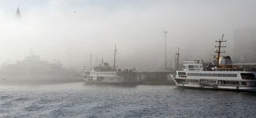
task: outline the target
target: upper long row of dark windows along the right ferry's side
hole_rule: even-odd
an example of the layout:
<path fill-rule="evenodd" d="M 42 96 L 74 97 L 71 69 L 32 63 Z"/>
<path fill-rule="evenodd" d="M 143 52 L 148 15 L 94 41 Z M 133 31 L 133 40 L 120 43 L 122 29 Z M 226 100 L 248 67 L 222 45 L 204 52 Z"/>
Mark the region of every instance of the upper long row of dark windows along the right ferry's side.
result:
<path fill-rule="evenodd" d="M 187 76 L 237 77 L 237 74 L 222 74 L 222 73 L 187 73 Z"/>

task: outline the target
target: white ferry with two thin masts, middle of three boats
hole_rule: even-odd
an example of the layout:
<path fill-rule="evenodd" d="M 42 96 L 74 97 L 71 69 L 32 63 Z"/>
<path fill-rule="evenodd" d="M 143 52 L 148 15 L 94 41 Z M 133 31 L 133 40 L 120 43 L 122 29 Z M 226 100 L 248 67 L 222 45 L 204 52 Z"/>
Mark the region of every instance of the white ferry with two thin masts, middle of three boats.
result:
<path fill-rule="evenodd" d="M 135 69 L 117 69 L 116 68 L 116 46 L 114 50 L 114 65 L 103 63 L 99 66 L 91 68 L 89 71 L 83 71 L 83 79 L 85 83 L 101 83 L 101 84 L 117 84 L 131 85 L 139 84 L 138 73 Z"/>

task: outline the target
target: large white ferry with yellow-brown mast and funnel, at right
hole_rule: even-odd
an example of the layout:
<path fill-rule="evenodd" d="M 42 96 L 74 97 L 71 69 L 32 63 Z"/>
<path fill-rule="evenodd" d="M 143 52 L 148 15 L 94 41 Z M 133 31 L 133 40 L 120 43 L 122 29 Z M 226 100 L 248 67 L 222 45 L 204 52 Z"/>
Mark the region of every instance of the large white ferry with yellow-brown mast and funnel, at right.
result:
<path fill-rule="evenodd" d="M 238 90 L 256 91 L 256 65 L 232 64 L 231 57 L 221 56 L 221 42 L 218 46 L 212 63 L 205 61 L 184 61 L 184 70 L 176 71 L 171 75 L 176 87 L 211 89 L 211 90 Z"/>

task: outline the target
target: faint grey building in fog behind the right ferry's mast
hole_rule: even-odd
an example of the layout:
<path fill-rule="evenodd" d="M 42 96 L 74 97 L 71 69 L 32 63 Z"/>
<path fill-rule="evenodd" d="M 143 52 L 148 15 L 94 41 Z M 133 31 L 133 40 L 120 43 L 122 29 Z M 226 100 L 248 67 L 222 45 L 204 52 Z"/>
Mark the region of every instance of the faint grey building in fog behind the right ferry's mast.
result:
<path fill-rule="evenodd" d="M 234 42 L 235 63 L 256 63 L 256 27 L 237 29 Z"/>

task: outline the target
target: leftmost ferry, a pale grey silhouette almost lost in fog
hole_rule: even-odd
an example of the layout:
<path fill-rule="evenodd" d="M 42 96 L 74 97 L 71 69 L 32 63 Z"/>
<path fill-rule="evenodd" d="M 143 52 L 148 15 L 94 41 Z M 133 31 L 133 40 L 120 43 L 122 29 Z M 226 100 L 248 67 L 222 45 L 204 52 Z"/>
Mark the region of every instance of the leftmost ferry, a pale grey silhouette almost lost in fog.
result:
<path fill-rule="evenodd" d="M 81 77 L 79 72 L 63 68 L 59 61 L 50 63 L 34 54 L 13 64 L 6 62 L 0 68 L 0 83 L 69 83 L 80 82 Z"/>

